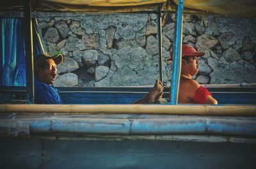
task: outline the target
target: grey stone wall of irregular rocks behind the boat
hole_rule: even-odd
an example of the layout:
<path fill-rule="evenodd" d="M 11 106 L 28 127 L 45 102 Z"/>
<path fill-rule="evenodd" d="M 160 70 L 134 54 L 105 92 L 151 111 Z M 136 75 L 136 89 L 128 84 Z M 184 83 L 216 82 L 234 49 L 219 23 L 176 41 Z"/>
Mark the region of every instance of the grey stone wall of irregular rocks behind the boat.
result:
<path fill-rule="evenodd" d="M 159 78 L 154 14 L 36 13 L 47 50 L 61 51 L 56 86 L 152 85 Z M 163 26 L 164 81 L 170 82 L 173 15 Z M 256 20 L 184 16 L 183 43 L 205 50 L 195 79 L 202 84 L 256 82 Z"/>

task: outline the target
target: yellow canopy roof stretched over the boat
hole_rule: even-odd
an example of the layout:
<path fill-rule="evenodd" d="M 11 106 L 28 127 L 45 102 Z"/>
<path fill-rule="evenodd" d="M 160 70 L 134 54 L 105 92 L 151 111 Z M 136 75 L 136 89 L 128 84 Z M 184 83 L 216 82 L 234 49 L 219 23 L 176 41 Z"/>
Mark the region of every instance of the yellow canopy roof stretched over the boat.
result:
<path fill-rule="evenodd" d="M 76 12 L 132 12 L 156 9 L 174 11 L 178 0 L 31 0 L 34 10 Z M 0 9 L 22 9 L 22 0 L 2 0 Z M 184 13 L 256 17 L 255 0 L 184 0 Z"/>

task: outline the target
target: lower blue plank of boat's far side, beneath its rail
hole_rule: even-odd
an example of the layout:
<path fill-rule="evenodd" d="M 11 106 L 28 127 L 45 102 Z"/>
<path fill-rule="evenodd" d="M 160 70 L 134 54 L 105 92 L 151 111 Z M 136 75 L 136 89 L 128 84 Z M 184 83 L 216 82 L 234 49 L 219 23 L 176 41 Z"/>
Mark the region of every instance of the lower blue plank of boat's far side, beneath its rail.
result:
<path fill-rule="evenodd" d="M 61 92 L 66 104 L 131 104 L 145 96 L 147 92 Z M 219 104 L 256 104 L 256 93 L 212 93 Z M 164 93 L 164 98 L 168 98 Z"/>

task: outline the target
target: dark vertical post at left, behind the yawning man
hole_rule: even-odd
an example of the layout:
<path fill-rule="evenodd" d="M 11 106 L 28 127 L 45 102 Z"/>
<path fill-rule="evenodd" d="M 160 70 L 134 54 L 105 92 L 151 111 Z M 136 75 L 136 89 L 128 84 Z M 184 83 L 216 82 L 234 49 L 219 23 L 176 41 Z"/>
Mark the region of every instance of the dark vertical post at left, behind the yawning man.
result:
<path fill-rule="evenodd" d="M 25 31 L 25 50 L 26 50 L 26 89 L 27 103 L 33 104 L 34 91 L 34 64 L 33 64 L 33 39 L 32 39 L 32 18 L 31 0 L 24 0 L 24 31 Z"/>

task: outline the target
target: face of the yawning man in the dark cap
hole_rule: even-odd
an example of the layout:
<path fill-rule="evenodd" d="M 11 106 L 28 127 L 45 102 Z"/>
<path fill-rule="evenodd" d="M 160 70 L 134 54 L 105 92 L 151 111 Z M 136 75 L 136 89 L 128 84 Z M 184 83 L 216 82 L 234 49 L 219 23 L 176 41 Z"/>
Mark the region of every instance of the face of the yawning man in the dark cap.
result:
<path fill-rule="evenodd" d="M 53 59 L 45 61 L 44 68 L 38 68 L 38 80 L 45 84 L 53 84 L 57 75 L 57 66 Z"/>

